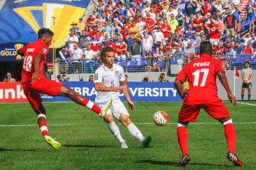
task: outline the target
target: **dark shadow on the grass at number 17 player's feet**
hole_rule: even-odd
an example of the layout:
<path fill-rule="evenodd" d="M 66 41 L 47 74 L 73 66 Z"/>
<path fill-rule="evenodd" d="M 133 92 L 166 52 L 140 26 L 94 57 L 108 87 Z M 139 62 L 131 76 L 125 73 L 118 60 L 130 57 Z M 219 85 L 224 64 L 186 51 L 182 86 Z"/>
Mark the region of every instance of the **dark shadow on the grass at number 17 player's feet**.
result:
<path fill-rule="evenodd" d="M 149 163 L 149 164 L 157 164 L 162 166 L 177 166 L 178 162 L 162 162 L 162 161 L 152 161 L 152 160 L 140 160 L 135 163 Z M 193 165 L 204 165 L 204 166 L 218 166 L 218 167 L 231 167 L 232 165 L 223 165 L 223 164 L 199 164 L 199 163 L 189 163 L 187 166 Z"/>

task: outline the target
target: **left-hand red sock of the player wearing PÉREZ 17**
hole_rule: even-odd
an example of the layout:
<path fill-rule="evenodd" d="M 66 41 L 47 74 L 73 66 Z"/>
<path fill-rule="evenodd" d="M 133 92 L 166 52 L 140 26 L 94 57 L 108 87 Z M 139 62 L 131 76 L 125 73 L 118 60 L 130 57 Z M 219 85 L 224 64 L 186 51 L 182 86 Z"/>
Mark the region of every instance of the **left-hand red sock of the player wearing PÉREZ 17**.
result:
<path fill-rule="evenodd" d="M 187 140 L 189 139 L 189 135 L 187 134 L 187 128 L 185 128 L 184 126 L 178 127 L 177 136 L 180 149 L 182 149 L 182 157 L 184 157 L 186 154 L 189 154 L 187 149 Z"/>

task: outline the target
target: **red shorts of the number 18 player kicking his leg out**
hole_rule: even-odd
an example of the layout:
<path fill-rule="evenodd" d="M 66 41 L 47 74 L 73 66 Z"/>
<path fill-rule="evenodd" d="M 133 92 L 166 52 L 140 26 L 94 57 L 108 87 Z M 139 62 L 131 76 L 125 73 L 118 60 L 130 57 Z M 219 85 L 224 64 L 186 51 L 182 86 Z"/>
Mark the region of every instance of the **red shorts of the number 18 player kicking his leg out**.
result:
<path fill-rule="evenodd" d="M 42 103 L 40 94 L 48 94 L 49 96 L 57 96 L 59 94 L 61 83 L 50 79 L 36 79 L 33 84 L 30 81 L 23 84 L 24 94 L 28 98 L 30 106 L 37 111 Z"/>

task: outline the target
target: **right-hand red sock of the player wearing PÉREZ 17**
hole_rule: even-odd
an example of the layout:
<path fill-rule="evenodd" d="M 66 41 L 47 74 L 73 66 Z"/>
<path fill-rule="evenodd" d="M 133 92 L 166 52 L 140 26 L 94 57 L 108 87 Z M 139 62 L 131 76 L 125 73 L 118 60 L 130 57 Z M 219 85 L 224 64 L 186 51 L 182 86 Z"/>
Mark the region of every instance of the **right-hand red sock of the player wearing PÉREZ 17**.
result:
<path fill-rule="evenodd" d="M 232 154 L 235 154 L 235 128 L 233 123 L 228 123 L 224 126 L 225 128 L 225 136 L 227 138 L 228 143 L 228 152 L 231 152 Z"/>

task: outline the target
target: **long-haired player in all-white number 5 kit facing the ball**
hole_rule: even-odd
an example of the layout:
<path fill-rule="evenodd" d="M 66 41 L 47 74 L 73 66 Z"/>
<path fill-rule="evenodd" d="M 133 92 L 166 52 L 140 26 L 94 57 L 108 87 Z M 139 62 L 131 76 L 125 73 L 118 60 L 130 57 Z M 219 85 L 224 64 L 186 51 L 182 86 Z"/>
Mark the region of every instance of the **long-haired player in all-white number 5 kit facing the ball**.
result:
<path fill-rule="evenodd" d="M 130 100 L 128 85 L 126 84 L 126 77 L 123 72 L 123 67 L 114 64 L 115 50 L 112 47 L 104 47 L 99 53 L 100 67 L 95 71 L 94 88 L 98 91 L 95 98 L 95 103 L 102 106 L 111 98 L 113 99 L 111 107 L 108 109 L 104 121 L 108 124 L 108 129 L 111 131 L 116 140 L 121 145 L 121 148 L 128 148 L 126 141 L 121 137 L 120 130 L 113 120 L 115 117 L 119 120 L 130 132 L 133 137 L 139 140 L 143 147 L 149 147 L 152 137 L 144 137 L 143 134 L 130 120 L 130 115 L 126 107 L 118 97 L 119 91 L 123 91 L 124 96 L 128 102 L 129 108 L 133 111 L 135 108 L 133 101 Z M 121 85 L 119 85 L 119 83 Z"/>

